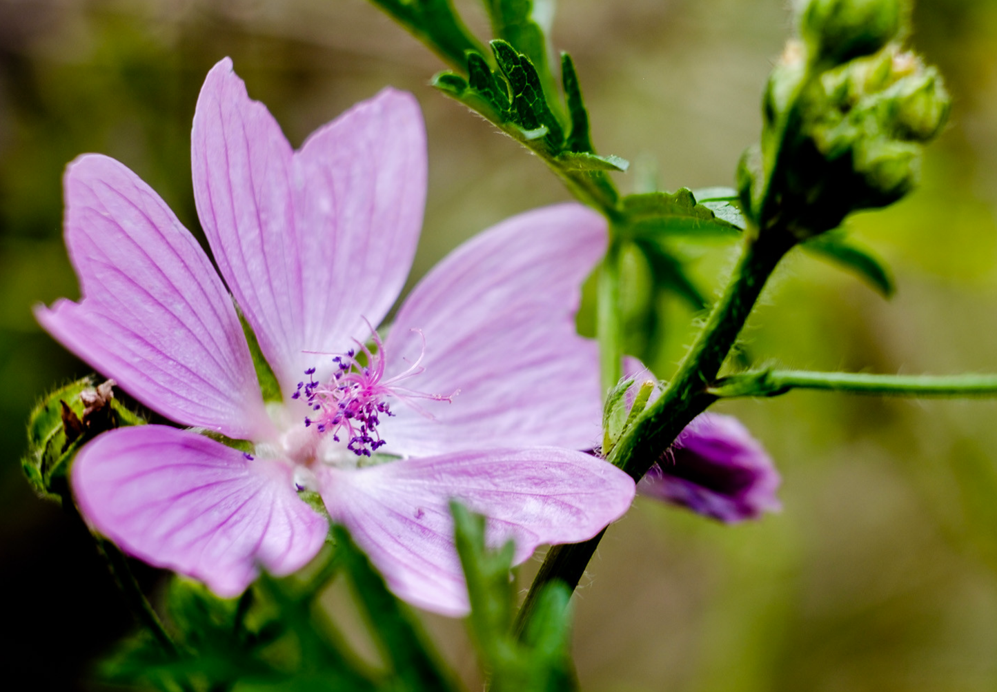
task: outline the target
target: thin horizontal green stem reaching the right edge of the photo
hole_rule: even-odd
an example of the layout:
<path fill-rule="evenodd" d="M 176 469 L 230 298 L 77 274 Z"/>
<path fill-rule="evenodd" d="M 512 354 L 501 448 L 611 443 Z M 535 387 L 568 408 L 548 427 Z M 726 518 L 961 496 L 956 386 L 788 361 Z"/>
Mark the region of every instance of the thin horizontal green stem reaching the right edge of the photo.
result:
<path fill-rule="evenodd" d="M 824 389 L 884 396 L 993 396 L 997 374 L 871 374 L 761 370 L 720 379 L 707 392 L 717 397 L 777 396 L 790 389 Z"/>

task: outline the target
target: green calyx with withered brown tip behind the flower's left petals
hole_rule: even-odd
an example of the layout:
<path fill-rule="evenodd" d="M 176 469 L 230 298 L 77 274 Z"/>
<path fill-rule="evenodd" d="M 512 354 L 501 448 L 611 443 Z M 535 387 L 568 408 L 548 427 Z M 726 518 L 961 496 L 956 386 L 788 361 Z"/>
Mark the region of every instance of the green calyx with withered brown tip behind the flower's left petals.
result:
<path fill-rule="evenodd" d="M 72 461 L 88 441 L 113 428 L 145 424 L 116 398 L 88 412 L 81 395 L 96 387 L 93 376 L 78 379 L 48 394 L 31 412 L 21 468 L 40 497 L 61 502 L 69 491 L 66 479 Z"/>

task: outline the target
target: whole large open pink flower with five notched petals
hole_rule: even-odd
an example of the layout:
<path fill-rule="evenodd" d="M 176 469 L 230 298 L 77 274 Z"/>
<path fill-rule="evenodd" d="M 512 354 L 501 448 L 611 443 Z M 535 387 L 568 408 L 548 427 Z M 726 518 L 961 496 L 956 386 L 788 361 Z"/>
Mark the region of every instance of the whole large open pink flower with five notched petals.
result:
<path fill-rule="evenodd" d="M 65 177 L 84 297 L 36 314 L 150 408 L 251 451 L 163 425 L 102 435 L 72 473 L 97 530 L 234 595 L 259 567 L 284 575 L 317 553 L 326 520 L 298 497 L 315 490 L 396 593 L 460 614 L 452 498 L 490 518 L 492 541 L 514 539 L 517 563 L 626 511 L 632 480 L 572 451 L 599 436 L 595 346 L 573 316 L 601 217 L 563 204 L 498 224 L 416 287 L 382 343 L 369 325 L 405 283 L 426 195 L 415 100 L 385 90 L 293 151 L 226 59 L 191 149 L 225 283 L 148 185 L 88 154 Z M 229 291 L 282 403 L 264 403 Z"/>

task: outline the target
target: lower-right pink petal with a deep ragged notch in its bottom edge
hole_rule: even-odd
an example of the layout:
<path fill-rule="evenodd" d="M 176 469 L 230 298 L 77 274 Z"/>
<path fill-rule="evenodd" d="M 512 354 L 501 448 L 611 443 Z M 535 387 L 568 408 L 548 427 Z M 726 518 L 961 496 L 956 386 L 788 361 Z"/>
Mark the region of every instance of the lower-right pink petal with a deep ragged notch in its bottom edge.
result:
<path fill-rule="evenodd" d="M 468 611 L 449 502 L 489 518 L 514 563 L 541 544 L 592 538 L 626 512 L 634 483 L 615 466 L 565 449 L 494 450 L 325 469 L 322 499 L 400 597 L 446 615 Z"/>

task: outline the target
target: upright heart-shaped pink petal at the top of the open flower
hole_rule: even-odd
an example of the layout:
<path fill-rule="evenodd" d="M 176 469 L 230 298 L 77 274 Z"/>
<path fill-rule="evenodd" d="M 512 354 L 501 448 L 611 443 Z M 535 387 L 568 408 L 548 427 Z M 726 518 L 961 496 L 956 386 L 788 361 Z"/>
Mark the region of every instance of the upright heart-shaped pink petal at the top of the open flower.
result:
<path fill-rule="evenodd" d="M 218 268 L 290 393 L 314 353 L 378 324 L 405 282 L 426 198 L 426 135 L 410 95 L 385 90 L 297 154 L 222 60 L 191 141 L 194 196 Z"/>

